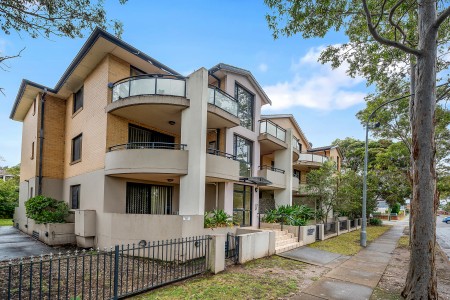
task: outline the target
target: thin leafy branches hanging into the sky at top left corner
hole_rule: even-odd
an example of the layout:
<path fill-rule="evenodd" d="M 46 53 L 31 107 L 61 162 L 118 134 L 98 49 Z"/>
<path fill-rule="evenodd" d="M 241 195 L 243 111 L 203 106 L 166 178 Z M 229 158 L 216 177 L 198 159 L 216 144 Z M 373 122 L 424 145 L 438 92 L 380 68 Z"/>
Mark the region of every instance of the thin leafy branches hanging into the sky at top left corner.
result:
<path fill-rule="evenodd" d="M 119 0 L 124 4 L 127 0 Z M 0 2 L 0 29 L 5 34 L 12 31 L 26 32 L 32 38 L 52 35 L 70 38 L 82 37 L 86 29 L 112 27 L 120 36 L 122 23 L 108 20 L 101 0 L 2 0 Z M 8 69 L 5 62 L 19 57 L 23 49 L 14 55 L 0 52 L 0 68 Z M 0 89 L 1 91 L 1 89 Z"/>

